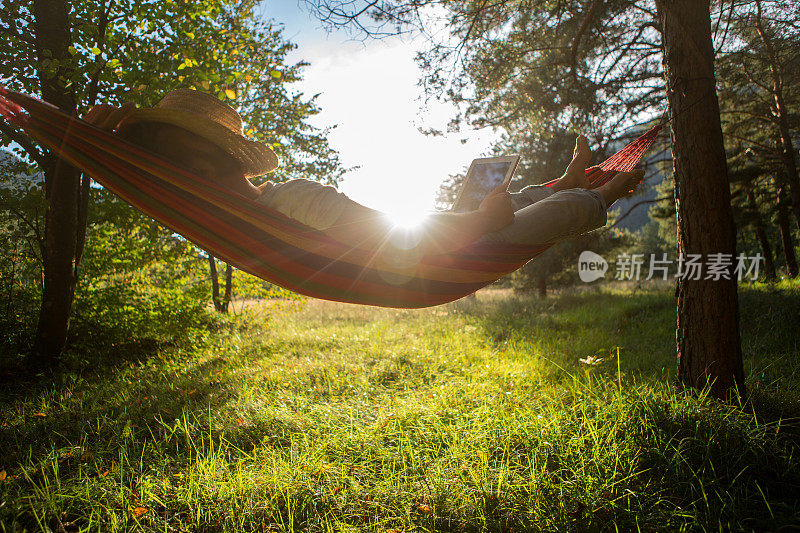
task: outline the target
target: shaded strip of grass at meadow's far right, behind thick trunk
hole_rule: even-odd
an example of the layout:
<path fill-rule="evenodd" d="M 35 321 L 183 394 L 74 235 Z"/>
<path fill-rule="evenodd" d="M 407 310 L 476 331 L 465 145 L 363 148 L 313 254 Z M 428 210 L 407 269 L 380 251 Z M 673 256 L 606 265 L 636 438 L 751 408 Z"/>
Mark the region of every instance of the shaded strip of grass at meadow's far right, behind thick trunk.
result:
<path fill-rule="evenodd" d="M 749 381 L 756 387 L 788 381 L 800 390 L 800 295 L 795 289 L 742 285 L 740 324 Z M 636 295 L 566 292 L 463 300 L 453 308 L 473 317 L 500 348 L 513 339 L 541 339 L 565 368 L 578 358 L 620 347 L 620 367 L 650 379 L 674 377 L 676 300 L 671 291 Z M 560 354 L 561 357 L 558 357 Z"/>

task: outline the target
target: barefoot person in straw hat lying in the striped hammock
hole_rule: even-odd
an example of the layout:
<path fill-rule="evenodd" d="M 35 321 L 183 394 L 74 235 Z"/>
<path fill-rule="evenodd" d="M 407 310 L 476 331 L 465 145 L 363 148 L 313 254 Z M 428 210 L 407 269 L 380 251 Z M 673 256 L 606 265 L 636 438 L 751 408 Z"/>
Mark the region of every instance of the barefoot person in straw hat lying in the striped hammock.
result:
<path fill-rule="evenodd" d="M 397 240 L 385 214 L 334 187 L 306 179 L 253 185 L 249 178 L 274 170 L 278 159 L 266 145 L 246 139 L 239 114 L 212 95 L 178 89 L 153 108 L 101 104 L 84 119 L 340 242 L 379 249 Z M 413 236 L 414 249 L 447 252 L 478 240 L 539 246 L 604 226 L 606 209 L 630 194 L 644 172 L 622 172 L 589 190 L 585 169 L 590 158 L 586 137 L 578 136 L 572 162 L 555 185 L 533 185 L 518 193 L 498 189 L 476 211 L 432 213 Z"/>

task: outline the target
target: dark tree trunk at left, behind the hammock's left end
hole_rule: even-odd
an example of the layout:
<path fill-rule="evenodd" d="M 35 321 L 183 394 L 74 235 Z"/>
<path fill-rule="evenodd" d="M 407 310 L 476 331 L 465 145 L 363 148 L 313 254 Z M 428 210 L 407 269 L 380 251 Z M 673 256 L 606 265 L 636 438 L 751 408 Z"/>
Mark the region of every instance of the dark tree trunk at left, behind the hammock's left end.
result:
<path fill-rule="evenodd" d="M 76 110 L 71 77 L 64 65 L 71 56 L 68 5 L 63 0 L 34 0 L 36 50 L 42 97 L 67 113 Z M 53 64 L 57 66 L 52 67 Z M 43 168 L 47 214 L 44 235 L 42 307 L 30 363 L 51 366 L 64 348 L 78 273 L 80 173 L 65 161 L 47 156 Z"/>

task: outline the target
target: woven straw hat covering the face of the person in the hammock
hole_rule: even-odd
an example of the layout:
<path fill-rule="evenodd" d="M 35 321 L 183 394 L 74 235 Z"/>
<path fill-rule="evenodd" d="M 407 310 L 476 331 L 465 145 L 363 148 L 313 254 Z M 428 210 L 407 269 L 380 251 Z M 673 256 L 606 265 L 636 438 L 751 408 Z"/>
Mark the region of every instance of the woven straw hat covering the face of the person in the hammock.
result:
<path fill-rule="evenodd" d="M 275 152 L 244 136 L 239 113 L 208 93 L 191 89 L 170 91 L 155 107 L 131 112 L 117 131 L 122 132 L 137 122 L 172 124 L 203 137 L 233 156 L 245 177 L 260 176 L 278 168 Z"/>

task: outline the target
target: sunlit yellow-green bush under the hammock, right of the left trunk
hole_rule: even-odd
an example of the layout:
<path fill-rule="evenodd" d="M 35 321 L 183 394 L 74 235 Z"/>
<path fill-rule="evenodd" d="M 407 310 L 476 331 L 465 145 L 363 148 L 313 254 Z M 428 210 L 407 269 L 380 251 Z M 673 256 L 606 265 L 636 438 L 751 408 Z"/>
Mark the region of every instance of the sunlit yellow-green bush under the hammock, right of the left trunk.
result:
<path fill-rule="evenodd" d="M 130 208 L 126 211 L 143 218 Z M 146 219 L 120 222 L 90 227 L 84 283 L 76 293 L 74 337 L 86 345 L 132 337 L 164 340 L 201 324 L 207 274 L 191 243 Z"/>

